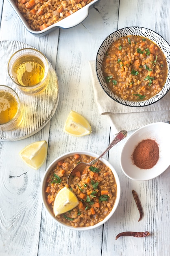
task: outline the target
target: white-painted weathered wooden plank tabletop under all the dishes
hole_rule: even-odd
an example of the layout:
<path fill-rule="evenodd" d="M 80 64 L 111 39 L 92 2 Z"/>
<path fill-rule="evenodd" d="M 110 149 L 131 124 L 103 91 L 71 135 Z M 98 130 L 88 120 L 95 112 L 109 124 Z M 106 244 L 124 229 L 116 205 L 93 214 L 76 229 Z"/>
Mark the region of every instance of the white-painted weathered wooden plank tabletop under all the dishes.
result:
<path fill-rule="evenodd" d="M 128 26 L 153 29 L 170 42 L 170 1 L 100 0 L 82 24 L 40 38 L 26 31 L 7 0 L 0 1 L 0 40 L 22 41 L 43 52 L 57 72 L 60 88 L 57 110 L 42 130 L 23 140 L 0 141 L 0 256 L 170 255 L 170 168 L 150 181 L 130 180 L 120 168 L 126 139 L 105 156 L 116 168 L 122 187 L 120 204 L 105 225 L 92 231 L 70 231 L 57 225 L 41 202 L 41 178 L 57 156 L 82 149 L 101 153 L 113 139 L 94 100 L 88 61 L 95 60 L 106 36 Z M 91 135 L 77 138 L 63 132 L 71 109 L 87 118 Z M 48 141 L 48 156 L 46 164 L 34 171 L 18 153 L 39 140 Z M 144 210 L 140 222 L 132 189 Z M 149 231 L 150 236 L 115 240 L 122 231 Z"/>

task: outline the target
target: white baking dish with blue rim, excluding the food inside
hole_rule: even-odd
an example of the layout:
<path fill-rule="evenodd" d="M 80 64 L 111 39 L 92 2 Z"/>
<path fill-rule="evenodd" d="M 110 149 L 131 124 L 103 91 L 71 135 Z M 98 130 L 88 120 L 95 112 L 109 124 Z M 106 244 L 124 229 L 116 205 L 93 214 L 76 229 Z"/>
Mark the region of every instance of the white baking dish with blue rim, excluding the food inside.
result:
<path fill-rule="evenodd" d="M 57 23 L 47 27 L 46 29 L 44 29 L 42 31 L 34 31 L 33 29 L 31 29 L 31 27 L 28 25 L 28 23 L 26 22 L 26 20 L 24 19 L 24 17 L 20 13 L 19 9 L 15 5 L 14 0 L 8 0 L 8 1 L 11 4 L 11 6 L 13 7 L 14 11 L 17 13 L 17 16 L 22 21 L 24 27 L 30 33 L 34 34 L 35 36 L 46 35 L 46 34 L 50 33 L 51 31 L 53 31 L 56 28 L 68 29 L 70 27 L 74 27 L 74 26 L 80 24 L 81 22 L 83 22 L 83 20 L 85 20 L 87 18 L 88 14 L 89 14 L 89 8 L 93 4 L 98 2 L 98 0 L 93 0 L 89 4 L 85 5 L 85 7 L 79 9 L 78 11 L 76 11 L 72 15 L 68 16 L 67 18 L 64 18 L 63 20 L 61 20 L 61 21 L 59 21 L 59 22 L 57 22 Z"/>

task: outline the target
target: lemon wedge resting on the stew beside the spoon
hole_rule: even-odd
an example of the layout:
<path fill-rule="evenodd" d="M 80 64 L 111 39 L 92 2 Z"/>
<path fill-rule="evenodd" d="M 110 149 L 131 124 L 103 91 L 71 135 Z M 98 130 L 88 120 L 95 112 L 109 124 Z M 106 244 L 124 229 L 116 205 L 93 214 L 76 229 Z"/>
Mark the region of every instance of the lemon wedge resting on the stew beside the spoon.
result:
<path fill-rule="evenodd" d="M 76 195 L 68 188 L 64 187 L 61 189 L 54 200 L 54 215 L 57 216 L 61 213 L 72 210 L 78 205 L 78 198 Z"/>

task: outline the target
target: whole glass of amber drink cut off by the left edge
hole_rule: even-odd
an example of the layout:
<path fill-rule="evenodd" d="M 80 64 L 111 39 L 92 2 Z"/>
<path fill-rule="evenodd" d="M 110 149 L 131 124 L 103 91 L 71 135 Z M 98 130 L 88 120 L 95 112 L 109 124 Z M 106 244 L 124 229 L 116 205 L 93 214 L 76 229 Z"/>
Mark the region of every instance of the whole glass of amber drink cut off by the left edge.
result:
<path fill-rule="evenodd" d="M 23 110 L 17 93 L 0 85 L 0 131 L 16 129 L 22 122 Z"/>

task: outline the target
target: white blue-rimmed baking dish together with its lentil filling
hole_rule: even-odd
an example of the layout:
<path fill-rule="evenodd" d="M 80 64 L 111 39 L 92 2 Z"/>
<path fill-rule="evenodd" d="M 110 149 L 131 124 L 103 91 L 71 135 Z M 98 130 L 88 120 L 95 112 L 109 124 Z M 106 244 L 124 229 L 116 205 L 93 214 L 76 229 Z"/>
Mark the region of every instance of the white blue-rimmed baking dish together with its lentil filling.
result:
<path fill-rule="evenodd" d="M 98 0 L 8 0 L 24 27 L 41 36 L 56 28 L 74 27 L 89 13 Z"/>

